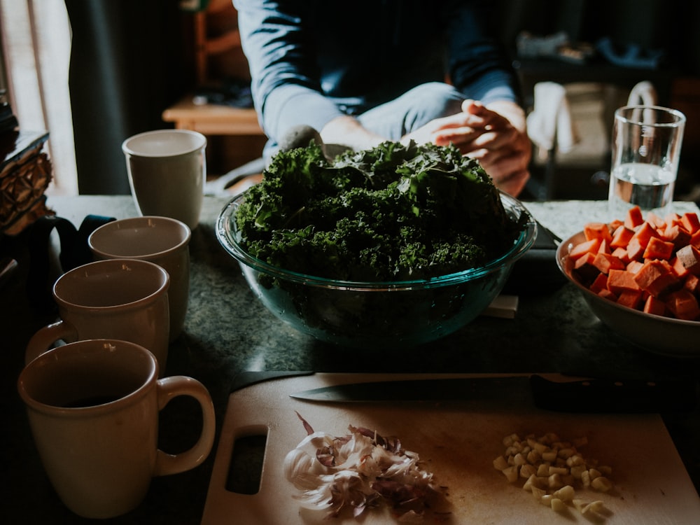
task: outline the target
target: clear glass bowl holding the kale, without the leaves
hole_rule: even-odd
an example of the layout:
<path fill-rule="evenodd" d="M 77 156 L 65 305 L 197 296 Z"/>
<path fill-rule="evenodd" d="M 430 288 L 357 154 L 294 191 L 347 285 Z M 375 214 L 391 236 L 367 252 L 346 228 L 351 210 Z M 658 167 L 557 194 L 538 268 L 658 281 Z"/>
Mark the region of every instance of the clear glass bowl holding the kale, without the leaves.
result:
<path fill-rule="evenodd" d="M 525 216 L 526 226 L 510 250 L 488 264 L 419 281 L 337 281 L 289 272 L 248 255 L 235 221 L 244 199 L 245 193 L 235 197 L 218 217 L 221 246 L 238 260 L 248 286 L 272 314 L 300 332 L 342 346 L 414 346 L 462 328 L 500 293 L 537 231 L 523 204 L 501 193 L 507 214 Z"/>

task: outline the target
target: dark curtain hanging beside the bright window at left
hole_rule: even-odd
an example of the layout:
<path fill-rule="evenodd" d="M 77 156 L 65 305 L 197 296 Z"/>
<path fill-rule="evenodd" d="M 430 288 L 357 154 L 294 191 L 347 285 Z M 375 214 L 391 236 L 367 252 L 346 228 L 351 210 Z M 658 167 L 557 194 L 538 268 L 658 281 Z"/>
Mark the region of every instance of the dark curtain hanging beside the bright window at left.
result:
<path fill-rule="evenodd" d="M 65 0 L 69 87 L 81 194 L 130 193 L 121 144 L 172 127 L 162 111 L 186 90 L 176 0 Z"/>

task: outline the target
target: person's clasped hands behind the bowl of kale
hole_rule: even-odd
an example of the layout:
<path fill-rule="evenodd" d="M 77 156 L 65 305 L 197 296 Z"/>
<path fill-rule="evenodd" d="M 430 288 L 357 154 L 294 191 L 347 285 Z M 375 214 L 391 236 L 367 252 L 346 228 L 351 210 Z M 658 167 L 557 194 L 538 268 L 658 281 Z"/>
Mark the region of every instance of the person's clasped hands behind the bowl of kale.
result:
<path fill-rule="evenodd" d="M 512 102 L 489 107 L 465 100 L 462 112 L 437 118 L 407 134 L 419 144 L 454 144 L 463 155 L 479 160 L 498 188 L 517 196 L 530 178 L 531 144 L 525 131 L 524 111 Z"/>

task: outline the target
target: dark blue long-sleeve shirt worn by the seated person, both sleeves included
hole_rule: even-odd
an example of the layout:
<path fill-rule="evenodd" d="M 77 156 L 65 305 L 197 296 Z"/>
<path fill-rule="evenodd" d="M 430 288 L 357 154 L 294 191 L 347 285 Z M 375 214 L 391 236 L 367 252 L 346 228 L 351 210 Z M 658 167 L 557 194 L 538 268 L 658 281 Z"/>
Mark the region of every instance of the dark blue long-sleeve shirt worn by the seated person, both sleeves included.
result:
<path fill-rule="evenodd" d="M 321 130 L 430 81 L 485 104 L 516 100 L 489 1 L 233 0 L 267 136 Z"/>

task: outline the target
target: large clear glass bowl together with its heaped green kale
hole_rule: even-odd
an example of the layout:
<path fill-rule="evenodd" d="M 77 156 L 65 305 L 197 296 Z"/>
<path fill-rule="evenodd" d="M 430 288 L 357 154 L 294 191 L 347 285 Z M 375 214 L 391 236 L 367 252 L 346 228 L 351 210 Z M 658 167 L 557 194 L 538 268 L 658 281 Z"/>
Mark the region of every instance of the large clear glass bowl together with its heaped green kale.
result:
<path fill-rule="evenodd" d="M 452 146 L 279 153 L 216 235 L 265 307 L 343 346 L 444 337 L 500 293 L 535 221 Z"/>

